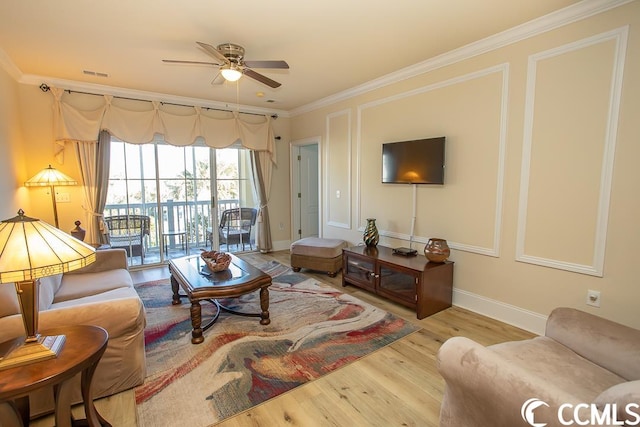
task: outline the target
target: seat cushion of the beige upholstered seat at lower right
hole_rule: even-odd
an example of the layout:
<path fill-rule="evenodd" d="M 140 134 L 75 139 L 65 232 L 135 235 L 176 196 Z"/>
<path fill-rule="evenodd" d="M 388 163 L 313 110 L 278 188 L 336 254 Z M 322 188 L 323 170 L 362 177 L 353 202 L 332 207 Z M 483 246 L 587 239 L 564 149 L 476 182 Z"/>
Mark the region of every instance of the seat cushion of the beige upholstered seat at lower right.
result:
<path fill-rule="evenodd" d="M 489 349 L 582 402 L 591 402 L 602 390 L 624 381 L 548 337 L 496 344 Z"/>

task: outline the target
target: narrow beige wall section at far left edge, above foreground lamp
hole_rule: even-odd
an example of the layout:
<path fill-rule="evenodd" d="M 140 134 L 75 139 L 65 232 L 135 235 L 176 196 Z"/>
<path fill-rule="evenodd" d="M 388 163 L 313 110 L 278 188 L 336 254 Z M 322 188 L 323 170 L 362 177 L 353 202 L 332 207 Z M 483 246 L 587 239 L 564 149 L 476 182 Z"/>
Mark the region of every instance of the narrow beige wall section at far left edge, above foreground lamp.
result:
<path fill-rule="evenodd" d="M 27 176 L 22 155 L 18 84 L 1 67 L 0 93 L 0 220 L 16 216 L 20 208 L 34 216 L 23 186 Z"/>

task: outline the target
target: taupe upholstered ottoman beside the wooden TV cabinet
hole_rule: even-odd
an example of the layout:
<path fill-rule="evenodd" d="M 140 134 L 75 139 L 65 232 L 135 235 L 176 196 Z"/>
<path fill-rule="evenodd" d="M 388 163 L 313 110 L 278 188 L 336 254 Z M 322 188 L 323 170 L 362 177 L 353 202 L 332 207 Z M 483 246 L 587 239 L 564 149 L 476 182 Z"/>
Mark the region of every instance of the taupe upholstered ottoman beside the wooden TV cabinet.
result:
<path fill-rule="evenodd" d="M 347 242 L 340 239 L 305 237 L 291 244 L 291 268 L 326 271 L 335 277 L 342 268 L 342 248 L 346 247 Z"/>

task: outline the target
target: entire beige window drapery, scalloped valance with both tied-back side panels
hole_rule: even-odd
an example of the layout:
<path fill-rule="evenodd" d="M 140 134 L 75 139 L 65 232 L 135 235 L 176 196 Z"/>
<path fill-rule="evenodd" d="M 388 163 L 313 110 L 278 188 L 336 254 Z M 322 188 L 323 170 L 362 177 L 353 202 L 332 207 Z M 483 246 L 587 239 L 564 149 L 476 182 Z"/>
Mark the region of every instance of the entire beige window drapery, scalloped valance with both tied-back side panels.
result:
<path fill-rule="evenodd" d="M 163 106 L 159 101 L 123 100 L 104 95 L 104 104 L 81 109 L 63 99 L 64 90 L 51 88 L 54 96 L 54 154 L 62 163 L 65 142 L 77 147 L 85 190 L 85 209 L 92 218 L 90 239 L 106 241 L 102 211 L 106 204 L 109 177 L 110 135 L 133 144 L 152 142 L 154 136 L 176 146 L 202 139 L 212 148 L 226 148 L 235 143 L 251 150 L 254 191 L 259 200 L 257 246 L 272 250 L 267 204 L 271 173 L 276 162 L 276 144 L 269 115 L 220 112 L 202 107 Z M 94 96 L 94 95 L 83 95 Z M 100 142 L 96 140 L 99 136 Z M 95 160 L 92 160 L 95 159 Z M 84 165 L 84 166 L 83 166 Z"/>

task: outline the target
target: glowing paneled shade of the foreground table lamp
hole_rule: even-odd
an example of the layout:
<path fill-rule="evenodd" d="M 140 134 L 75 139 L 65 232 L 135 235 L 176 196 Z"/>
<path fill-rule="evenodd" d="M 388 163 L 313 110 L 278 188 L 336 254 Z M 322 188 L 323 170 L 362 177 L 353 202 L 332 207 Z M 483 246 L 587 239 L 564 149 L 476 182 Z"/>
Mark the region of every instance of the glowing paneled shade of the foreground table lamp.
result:
<path fill-rule="evenodd" d="M 82 268 L 95 249 L 21 209 L 0 222 L 0 283 L 35 280 Z"/>

